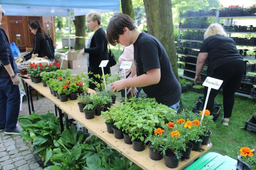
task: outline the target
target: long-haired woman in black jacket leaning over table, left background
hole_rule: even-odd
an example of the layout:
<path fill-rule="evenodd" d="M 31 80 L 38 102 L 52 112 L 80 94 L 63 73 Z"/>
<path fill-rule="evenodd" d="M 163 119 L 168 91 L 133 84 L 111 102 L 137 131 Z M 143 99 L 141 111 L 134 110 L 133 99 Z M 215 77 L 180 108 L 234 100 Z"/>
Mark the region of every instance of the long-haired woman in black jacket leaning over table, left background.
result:
<path fill-rule="evenodd" d="M 44 32 L 40 22 L 32 21 L 29 24 L 29 29 L 35 34 L 33 51 L 21 58 L 29 60 L 32 54 L 38 54 L 38 57 L 42 57 L 46 60 L 54 59 L 54 46 L 50 35 Z"/>

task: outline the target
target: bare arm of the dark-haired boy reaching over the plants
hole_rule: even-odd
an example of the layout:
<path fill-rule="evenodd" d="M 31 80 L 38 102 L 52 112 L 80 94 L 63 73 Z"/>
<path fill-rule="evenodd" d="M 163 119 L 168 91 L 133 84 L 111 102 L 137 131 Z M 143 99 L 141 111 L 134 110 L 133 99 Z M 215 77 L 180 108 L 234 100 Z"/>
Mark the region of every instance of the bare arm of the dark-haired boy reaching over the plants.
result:
<path fill-rule="evenodd" d="M 148 70 L 145 74 L 129 78 L 129 79 L 122 79 L 119 81 L 115 81 L 111 83 L 113 92 L 118 92 L 124 87 L 145 87 L 152 84 L 159 83 L 161 78 L 160 69 L 152 69 Z"/>

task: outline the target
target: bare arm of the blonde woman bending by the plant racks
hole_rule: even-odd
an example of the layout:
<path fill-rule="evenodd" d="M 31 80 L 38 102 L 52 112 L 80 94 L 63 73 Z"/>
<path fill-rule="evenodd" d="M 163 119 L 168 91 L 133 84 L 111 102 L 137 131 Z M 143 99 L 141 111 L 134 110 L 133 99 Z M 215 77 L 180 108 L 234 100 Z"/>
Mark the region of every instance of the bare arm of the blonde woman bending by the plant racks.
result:
<path fill-rule="evenodd" d="M 203 66 L 208 58 L 209 53 L 199 53 L 197 58 L 197 67 L 196 67 L 196 76 L 194 84 L 197 84 L 197 81 L 201 81 L 200 73 L 203 70 Z"/>

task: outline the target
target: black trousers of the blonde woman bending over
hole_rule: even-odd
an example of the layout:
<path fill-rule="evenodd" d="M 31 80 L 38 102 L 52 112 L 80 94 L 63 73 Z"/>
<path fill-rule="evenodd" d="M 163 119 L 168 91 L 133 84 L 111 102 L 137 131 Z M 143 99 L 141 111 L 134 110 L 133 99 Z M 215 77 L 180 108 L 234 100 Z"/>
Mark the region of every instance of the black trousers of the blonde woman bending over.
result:
<path fill-rule="evenodd" d="M 224 64 L 214 70 L 212 78 L 217 78 L 223 80 L 221 87 L 216 89 L 211 89 L 206 109 L 211 113 L 213 111 L 214 98 L 218 95 L 221 88 L 223 89 L 223 110 L 224 118 L 230 118 L 235 102 L 234 94 L 239 87 L 242 76 L 245 72 L 245 62 L 244 61 L 233 61 Z M 204 87 L 204 100 L 206 99 L 208 87 Z M 205 103 L 205 101 L 203 101 Z"/>

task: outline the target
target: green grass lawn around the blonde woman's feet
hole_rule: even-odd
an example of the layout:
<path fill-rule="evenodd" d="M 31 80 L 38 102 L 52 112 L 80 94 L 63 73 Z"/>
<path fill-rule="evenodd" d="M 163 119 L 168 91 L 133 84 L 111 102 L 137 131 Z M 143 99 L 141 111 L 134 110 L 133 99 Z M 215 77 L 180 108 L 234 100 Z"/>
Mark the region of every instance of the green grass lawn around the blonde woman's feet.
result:
<path fill-rule="evenodd" d="M 192 110 L 193 105 L 197 102 L 197 97 L 203 96 L 202 93 L 188 91 L 181 94 L 181 101 L 184 108 Z M 223 103 L 222 93 L 215 98 L 218 103 Z M 213 128 L 210 141 L 212 148 L 209 152 L 217 152 L 237 159 L 237 152 L 242 147 L 251 149 L 256 146 L 256 135 L 244 130 L 245 121 L 251 118 L 256 112 L 256 99 L 235 95 L 235 104 L 233 107 L 232 117 L 228 126 L 222 125 L 223 104 L 218 119 L 215 121 L 216 127 Z"/>

